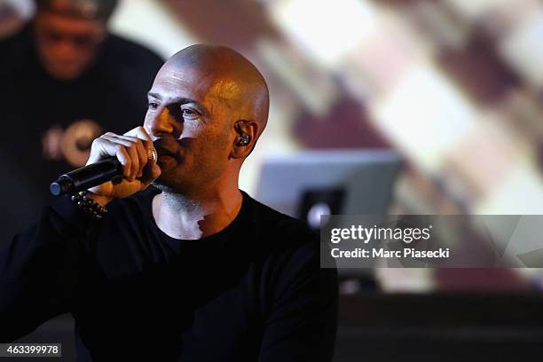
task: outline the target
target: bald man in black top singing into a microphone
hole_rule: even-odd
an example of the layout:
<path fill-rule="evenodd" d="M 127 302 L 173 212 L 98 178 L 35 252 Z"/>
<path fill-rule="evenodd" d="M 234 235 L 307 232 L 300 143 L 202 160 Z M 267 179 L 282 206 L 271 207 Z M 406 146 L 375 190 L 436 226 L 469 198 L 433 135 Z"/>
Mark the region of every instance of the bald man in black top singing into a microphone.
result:
<path fill-rule="evenodd" d="M 71 311 L 82 360 L 331 361 L 337 281 L 318 235 L 238 186 L 267 122 L 263 76 L 194 45 L 148 100 L 143 127 L 91 147 L 122 180 L 59 200 L 0 254 L 0 342 Z"/>

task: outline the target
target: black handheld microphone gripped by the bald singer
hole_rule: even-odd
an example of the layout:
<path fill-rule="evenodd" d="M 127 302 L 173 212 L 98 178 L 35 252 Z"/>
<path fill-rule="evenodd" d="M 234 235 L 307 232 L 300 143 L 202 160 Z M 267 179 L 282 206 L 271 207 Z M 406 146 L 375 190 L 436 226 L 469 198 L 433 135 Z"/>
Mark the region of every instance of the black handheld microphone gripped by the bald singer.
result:
<path fill-rule="evenodd" d="M 158 155 L 154 147 L 149 152 L 149 160 L 157 160 Z M 113 183 L 122 179 L 122 163 L 116 157 L 107 157 L 102 161 L 75 169 L 57 178 L 49 186 L 54 196 L 65 193 L 77 193 L 94 186 L 102 185 L 107 181 Z"/>

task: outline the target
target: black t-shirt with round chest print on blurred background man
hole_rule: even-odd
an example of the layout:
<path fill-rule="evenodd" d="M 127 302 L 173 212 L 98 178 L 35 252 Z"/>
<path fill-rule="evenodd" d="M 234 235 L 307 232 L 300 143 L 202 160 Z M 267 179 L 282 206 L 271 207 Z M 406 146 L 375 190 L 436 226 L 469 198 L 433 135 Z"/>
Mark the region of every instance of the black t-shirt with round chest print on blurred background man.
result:
<path fill-rule="evenodd" d="M 61 81 L 43 69 L 30 27 L 0 42 L 0 199 L 11 205 L 0 209 L 4 238 L 51 201 L 51 181 L 84 165 L 92 139 L 143 124 L 146 92 L 162 63 L 152 51 L 108 35 L 83 75 Z"/>

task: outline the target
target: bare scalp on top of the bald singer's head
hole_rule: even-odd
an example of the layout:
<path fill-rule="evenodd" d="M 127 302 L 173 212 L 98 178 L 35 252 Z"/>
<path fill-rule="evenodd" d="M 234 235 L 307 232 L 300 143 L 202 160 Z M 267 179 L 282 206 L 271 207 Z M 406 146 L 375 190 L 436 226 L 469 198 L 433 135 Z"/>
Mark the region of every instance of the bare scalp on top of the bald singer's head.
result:
<path fill-rule="evenodd" d="M 247 58 L 224 46 L 196 44 L 178 51 L 161 71 L 187 68 L 202 77 L 220 78 L 216 95 L 224 98 L 240 120 L 256 122 L 260 136 L 268 120 L 270 95 L 264 76 Z"/>

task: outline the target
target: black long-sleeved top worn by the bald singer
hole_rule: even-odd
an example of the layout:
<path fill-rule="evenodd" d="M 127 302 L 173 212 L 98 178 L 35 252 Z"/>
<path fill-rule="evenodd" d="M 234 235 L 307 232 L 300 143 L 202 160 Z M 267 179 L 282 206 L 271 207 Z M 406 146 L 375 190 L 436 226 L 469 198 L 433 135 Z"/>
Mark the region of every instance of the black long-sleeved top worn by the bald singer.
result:
<path fill-rule="evenodd" d="M 336 271 L 316 233 L 243 193 L 224 230 L 176 240 L 154 223 L 157 193 L 101 222 L 60 200 L 18 235 L 0 253 L 0 342 L 72 311 L 81 360 L 332 360 Z"/>

